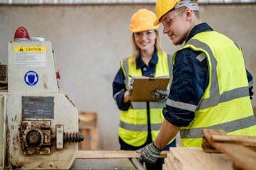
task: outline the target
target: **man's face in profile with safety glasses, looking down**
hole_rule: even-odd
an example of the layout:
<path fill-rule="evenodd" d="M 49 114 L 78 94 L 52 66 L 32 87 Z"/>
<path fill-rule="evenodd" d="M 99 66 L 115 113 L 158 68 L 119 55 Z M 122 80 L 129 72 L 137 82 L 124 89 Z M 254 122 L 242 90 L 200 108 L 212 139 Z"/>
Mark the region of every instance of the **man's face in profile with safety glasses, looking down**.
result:
<path fill-rule="evenodd" d="M 162 16 L 163 33 L 177 46 L 183 44 L 189 34 L 189 22 L 186 15 L 187 8 L 174 9 Z"/>

